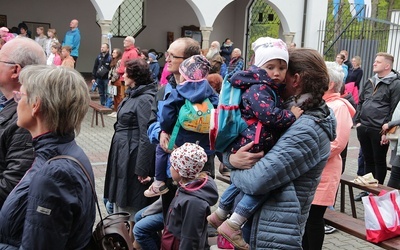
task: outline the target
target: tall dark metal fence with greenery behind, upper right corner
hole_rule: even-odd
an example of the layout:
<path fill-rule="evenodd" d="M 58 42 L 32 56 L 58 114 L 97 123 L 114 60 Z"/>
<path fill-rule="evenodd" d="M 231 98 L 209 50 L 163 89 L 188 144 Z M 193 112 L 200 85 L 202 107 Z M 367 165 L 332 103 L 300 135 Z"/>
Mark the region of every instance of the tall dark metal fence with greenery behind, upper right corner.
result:
<path fill-rule="evenodd" d="M 382 11 L 382 10 L 381 10 Z M 383 10 L 384 11 L 384 10 Z M 399 70 L 400 15 L 389 13 L 391 19 L 383 20 L 367 15 L 367 6 L 356 8 L 351 4 L 331 5 L 326 23 L 320 23 L 319 51 L 327 61 L 335 61 L 341 50 L 349 52 L 348 59 L 360 56 L 364 71 L 362 81 L 373 75 L 372 65 L 378 52 L 388 52 L 395 58 L 393 68 Z M 376 10 L 375 16 L 378 16 Z"/>

